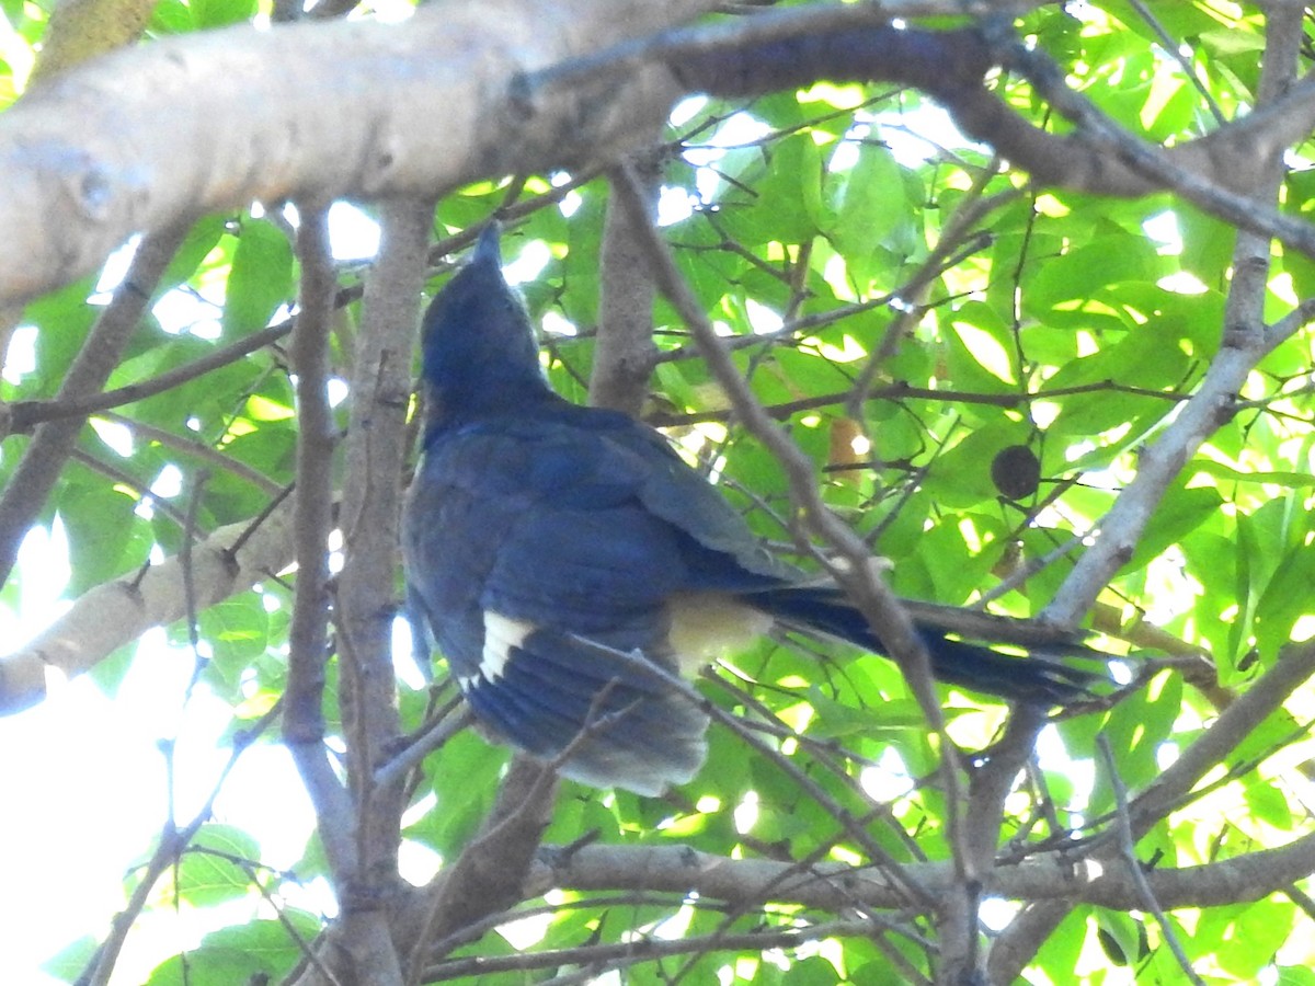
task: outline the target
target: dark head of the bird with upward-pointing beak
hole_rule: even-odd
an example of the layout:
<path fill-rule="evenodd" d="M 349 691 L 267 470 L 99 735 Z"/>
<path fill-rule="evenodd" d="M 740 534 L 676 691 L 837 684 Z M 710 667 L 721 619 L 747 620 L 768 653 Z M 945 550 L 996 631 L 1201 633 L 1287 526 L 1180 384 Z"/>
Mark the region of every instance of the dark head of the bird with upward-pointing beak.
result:
<path fill-rule="evenodd" d="M 500 229 L 480 234 L 471 259 L 425 313 L 423 379 L 430 431 L 551 397 L 521 298 L 502 276 Z"/>

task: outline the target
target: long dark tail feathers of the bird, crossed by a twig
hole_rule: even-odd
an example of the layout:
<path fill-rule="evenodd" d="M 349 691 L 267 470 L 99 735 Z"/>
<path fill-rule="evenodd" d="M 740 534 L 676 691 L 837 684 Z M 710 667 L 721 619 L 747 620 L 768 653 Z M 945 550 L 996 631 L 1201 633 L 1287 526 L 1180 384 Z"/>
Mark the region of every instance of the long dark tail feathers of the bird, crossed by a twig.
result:
<path fill-rule="evenodd" d="M 867 617 L 839 589 L 781 586 L 753 593 L 744 601 L 771 614 L 788 630 L 839 638 L 872 653 L 889 656 L 888 648 L 872 632 Z M 984 615 L 981 622 L 994 643 L 1014 644 L 1027 651 L 1026 655 L 1011 655 L 993 649 L 986 643 L 960 639 L 957 631 L 939 623 L 936 611 L 938 607 L 919 605 L 914 611 L 914 626 L 927 648 L 931 673 L 938 681 L 1044 706 L 1094 698 L 1101 686 L 1110 681 L 1105 674 L 1059 660 L 1060 655 L 1077 655 L 1105 661 L 1109 655 L 1072 642 L 1053 640 L 1043 644 L 1035 639 L 1035 623 Z M 1011 632 L 1014 627 L 1018 628 L 1016 634 Z M 1049 636 L 1053 638 L 1053 634 Z"/>

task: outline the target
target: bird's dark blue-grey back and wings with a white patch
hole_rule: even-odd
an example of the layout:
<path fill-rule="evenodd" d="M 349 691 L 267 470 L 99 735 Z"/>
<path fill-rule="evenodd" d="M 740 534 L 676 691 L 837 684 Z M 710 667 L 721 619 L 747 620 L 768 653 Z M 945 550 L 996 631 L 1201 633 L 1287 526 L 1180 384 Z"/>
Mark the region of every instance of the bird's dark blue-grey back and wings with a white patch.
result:
<path fill-rule="evenodd" d="M 743 617 L 729 593 L 773 578 L 740 517 L 642 426 L 564 408 L 435 443 L 405 551 L 481 719 L 540 756 L 567 751 L 568 776 L 640 793 L 704 757 L 707 719 L 664 678 L 672 601 L 719 589 Z"/>

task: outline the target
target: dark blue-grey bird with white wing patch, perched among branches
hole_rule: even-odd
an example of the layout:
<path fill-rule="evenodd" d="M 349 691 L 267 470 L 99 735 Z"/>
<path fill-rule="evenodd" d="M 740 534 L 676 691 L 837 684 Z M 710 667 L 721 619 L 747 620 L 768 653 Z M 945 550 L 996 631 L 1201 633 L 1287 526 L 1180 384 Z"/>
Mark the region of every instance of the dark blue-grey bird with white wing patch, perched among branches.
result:
<path fill-rule="evenodd" d="M 406 605 L 487 735 L 654 797 L 706 756 L 709 716 L 677 672 L 773 627 L 886 655 L 838 588 L 769 553 L 659 431 L 551 388 L 496 222 L 421 339 Z M 957 639 L 926 614 L 915 626 L 940 681 L 1047 707 L 1089 697 L 1093 672 Z"/>

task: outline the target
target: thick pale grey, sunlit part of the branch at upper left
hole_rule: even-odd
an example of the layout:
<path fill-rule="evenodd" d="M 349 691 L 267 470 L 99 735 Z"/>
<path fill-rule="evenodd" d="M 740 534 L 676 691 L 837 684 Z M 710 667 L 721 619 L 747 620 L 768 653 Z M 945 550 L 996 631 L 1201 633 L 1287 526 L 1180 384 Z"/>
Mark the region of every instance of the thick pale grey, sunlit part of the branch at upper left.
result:
<path fill-rule="evenodd" d="M 405 25 L 243 26 L 108 55 L 0 117 L 0 297 L 93 270 L 134 230 L 252 200 L 434 197 L 526 160 L 605 156 L 629 121 L 665 117 L 664 70 L 625 99 L 551 106 L 513 100 L 513 76 L 713 7 L 431 4 Z"/>

